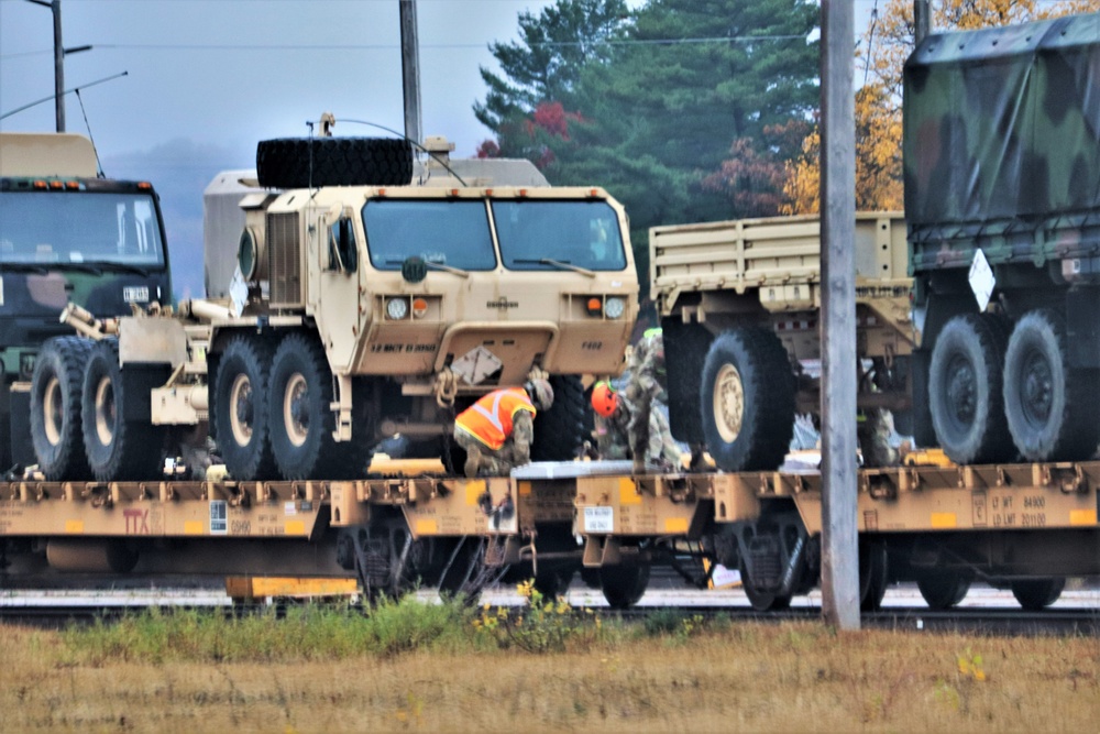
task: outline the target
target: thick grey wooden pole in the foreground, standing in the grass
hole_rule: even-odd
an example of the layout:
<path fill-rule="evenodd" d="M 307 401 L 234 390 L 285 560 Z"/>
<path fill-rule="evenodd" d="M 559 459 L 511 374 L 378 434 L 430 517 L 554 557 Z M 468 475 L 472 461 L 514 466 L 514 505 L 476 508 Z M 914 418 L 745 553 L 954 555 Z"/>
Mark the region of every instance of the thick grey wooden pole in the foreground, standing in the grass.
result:
<path fill-rule="evenodd" d="M 822 1 L 822 613 L 859 629 L 851 0 Z"/>

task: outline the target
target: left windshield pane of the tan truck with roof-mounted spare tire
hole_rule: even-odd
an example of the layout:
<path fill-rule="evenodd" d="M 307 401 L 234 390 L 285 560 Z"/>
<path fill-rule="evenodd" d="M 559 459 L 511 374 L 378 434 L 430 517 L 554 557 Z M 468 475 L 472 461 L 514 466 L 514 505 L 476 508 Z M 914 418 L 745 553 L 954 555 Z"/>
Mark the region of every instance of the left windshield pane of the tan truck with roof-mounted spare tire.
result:
<path fill-rule="evenodd" d="M 411 256 L 468 271 L 496 267 L 484 201 L 372 199 L 363 227 L 377 270 L 400 270 Z"/>

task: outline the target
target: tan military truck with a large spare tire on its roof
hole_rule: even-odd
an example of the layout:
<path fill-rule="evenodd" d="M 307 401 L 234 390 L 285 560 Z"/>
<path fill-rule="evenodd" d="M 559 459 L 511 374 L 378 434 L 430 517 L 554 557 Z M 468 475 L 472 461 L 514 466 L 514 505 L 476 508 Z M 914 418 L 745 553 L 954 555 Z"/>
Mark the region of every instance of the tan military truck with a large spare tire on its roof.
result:
<path fill-rule="evenodd" d="M 532 456 L 572 458 L 580 375 L 622 370 L 637 315 L 623 207 L 600 188 L 411 185 L 413 171 L 402 140 L 262 142 L 230 298 L 67 311 L 97 343 L 84 366 L 59 361 L 80 387 L 36 445 L 46 476 L 82 469 L 63 446 L 73 423 L 90 473 L 120 481 L 154 478 L 161 439 L 206 421 L 235 480 L 362 476 L 380 438 L 446 458 L 454 412 L 539 376 L 556 401 Z"/>

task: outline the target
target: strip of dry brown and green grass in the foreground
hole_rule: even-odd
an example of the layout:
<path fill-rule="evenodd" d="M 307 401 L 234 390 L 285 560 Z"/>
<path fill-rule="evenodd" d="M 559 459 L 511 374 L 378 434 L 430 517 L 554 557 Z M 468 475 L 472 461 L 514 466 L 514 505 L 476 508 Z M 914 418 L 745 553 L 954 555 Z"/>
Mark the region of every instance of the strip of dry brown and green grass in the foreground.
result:
<path fill-rule="evenodd" d="M 0 626 L 0 731 L 1084 732 L 1100 717 L 1094 637 L 674 611 L 628 625 L 529 601 L 522 617 L 405 599 L 370 615 Z"/>

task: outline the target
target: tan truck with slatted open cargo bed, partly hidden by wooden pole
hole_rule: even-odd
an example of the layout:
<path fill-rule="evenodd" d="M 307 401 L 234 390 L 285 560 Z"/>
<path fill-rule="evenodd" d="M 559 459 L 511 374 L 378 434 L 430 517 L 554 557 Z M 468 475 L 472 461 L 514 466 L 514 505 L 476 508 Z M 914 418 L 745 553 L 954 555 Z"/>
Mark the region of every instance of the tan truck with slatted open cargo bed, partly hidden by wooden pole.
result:
<path fill-rule="evenodd" d="M 705 442 L 723 469 L 774 469 L 795 413 L 817 410 L 820 233 L 816 215 L 649 231 L 672 434 Z M 909 408 L 915 335 L 903 215 L 858 213 L 853 244 L 858 403 L 873 421 L 882 408 Z"/>

